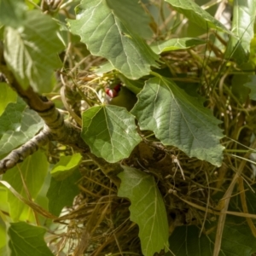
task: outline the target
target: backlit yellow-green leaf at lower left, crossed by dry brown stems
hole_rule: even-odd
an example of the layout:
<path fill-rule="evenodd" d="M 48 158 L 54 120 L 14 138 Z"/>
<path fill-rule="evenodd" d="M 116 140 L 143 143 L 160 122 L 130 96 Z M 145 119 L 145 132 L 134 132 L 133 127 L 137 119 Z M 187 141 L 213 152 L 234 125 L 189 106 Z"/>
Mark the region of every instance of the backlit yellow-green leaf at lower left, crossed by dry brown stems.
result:
<path fill-rule="evenodd" d="M 49 163 L 43 152 L 40 150 L 24 160 L 19 164 L 20 171 L 26 182 L 26 187 L 35 199 L 41 189 L 44 179 L 47 176 Z M 20 195 L 26 198 L 26 192 L 20 177 L 20 171 L 17 166 L 3 174 L 3 180 L 7 181 Z M 8 201 L 10 217 L 14 220 L 27 220 L 29 212 L 27 207 L 22 201 L 18 200 L 15 195 L 8 191 Z"/>

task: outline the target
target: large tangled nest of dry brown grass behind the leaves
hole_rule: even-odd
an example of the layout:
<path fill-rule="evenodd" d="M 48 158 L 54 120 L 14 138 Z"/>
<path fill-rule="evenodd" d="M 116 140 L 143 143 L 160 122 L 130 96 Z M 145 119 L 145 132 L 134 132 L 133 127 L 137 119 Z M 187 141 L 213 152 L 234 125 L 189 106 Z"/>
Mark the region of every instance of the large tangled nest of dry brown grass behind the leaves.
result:
<path fill-rule="evenodd" d="M 210 34 L 205 35 L 205 38 L 209 37 Z M 146 136 L 148 131 L 141 131 L 143 142 L 122 164 L 154 176 L 165 201 L 170 235 L 181 225 L 194 224 L 205 231 L 206 222 L 215 223 L 215 231 L 221 231 L 224 222 L 219 221 L 219 216 L 227 213 L 225 207 L 229 205 L 230 197 L 241 195 L 241 205 L 246 206 L 244 183 L 250 189 L 255 180 L 252 164 L 248 161 L 256 146 L 252 141 L 255 104 L 248 97 L 241 102 L 233 82 L 237 74 L 242 76 L 244 73 L 235 62 L 225 60 L 210 41 L 194 49 L 165 53 L 161 61 L 164 63 L 162 71 L 188 93 L 204 97 L 205 107 L 222 121 L 219 126 L 224 131 L 221 141 L 223 164 L 216 167 L 189 158 L 178 148 L 165 147 L 154 136 Z M 91 71 L 91 66 L 99 66 L 102 58 L 88 55 L 77 62 L 79 64 L 70 67 L 71 73 L 63 77 L 70 89 L 67 103 L 79 115 L 79 91 L 82 90 L 93 105 L 96 96 L 88 87 L 101 92 L 113 79 L 113 74 L 98 77 Z M 89 157 L 84 158 L 79 168 L 83 175 L 79 183 L 81 193 L 73 207 L 67 208 L 56 220 L 64 227 L 55 243 L 56 251 L 66 247 L 68 255 L 142 255 L 137 224 L 129 218 L 130 201 L 117 195 L 116 185 Z M 247 217 L 247 207 L 235 202 L 234 208 L 238 215 Z M 249 226 L 253 230 L 253 224 Z M 215 243 L 220 243 L 218 238 Z"/>

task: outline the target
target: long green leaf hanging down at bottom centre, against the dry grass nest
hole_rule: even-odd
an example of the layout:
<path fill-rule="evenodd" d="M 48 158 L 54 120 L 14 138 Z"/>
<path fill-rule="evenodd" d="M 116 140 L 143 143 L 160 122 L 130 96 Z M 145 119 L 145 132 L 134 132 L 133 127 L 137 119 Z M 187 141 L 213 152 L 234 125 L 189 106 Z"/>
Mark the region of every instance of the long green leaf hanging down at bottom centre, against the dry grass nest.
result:
<path fill-rule="evenodd" d="M 153 256 L 168 247 L 166 208 L 154 177 L 123 166 L 118 195 L 131 201 L 131 221 L 139 226 L 143 255 Z"/>

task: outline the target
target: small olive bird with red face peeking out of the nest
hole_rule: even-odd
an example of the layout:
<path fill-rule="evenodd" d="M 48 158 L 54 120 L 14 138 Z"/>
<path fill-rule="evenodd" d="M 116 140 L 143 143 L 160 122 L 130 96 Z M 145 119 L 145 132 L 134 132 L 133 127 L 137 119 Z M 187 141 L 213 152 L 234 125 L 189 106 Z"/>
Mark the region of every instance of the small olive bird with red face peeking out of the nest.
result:
<path fill-rule="evenodd" d="M 126 108 L 127 111 L 130 111 L 137 102 L 137 96 L 121 84 L 115 85 L 113 89 L 107 87 L 105 92 L 106 100 L 109 105 L 123 107 Z"/>

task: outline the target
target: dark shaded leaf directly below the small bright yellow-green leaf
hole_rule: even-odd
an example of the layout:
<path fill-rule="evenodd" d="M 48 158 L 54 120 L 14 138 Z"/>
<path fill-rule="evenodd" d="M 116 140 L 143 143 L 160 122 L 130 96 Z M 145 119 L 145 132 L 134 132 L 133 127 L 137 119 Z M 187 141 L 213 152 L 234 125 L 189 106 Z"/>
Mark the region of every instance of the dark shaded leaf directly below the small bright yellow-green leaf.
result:
<path fill-rule="evenodd" d="M 47 197 L 49 199 L 49 212 L 55 216 L 59 216 L 63 207 L 72 207 L 73 199 L 79 194 L 79 187 L 77 185 L 81 175 L 78 170 L 72 172 L 69 176 L 64 175 L 64 179 L 56 179 L 51 177 Z"/>

